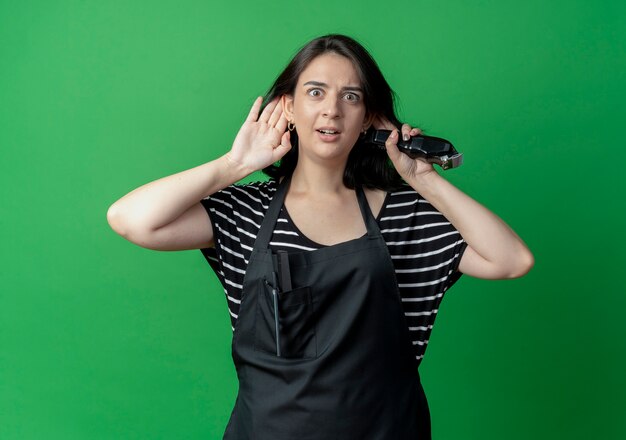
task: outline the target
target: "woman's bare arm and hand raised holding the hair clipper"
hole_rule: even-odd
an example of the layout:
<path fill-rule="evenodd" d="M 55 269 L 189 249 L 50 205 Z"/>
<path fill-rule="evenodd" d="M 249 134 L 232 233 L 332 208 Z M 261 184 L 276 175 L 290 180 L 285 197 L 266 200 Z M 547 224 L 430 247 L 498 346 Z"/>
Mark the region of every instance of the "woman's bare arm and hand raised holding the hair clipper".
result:
<path fill-rule="evenodd" d="M 403 127 L 407 132 L 410 128 Z M 417 134 L 419 129 L 413 129 Z M 459 270 L 485 279 L 517 278 L 534 265 L 520 237 L 497 215 L 442 178 L 432 165 L 411 159 L 396 144 L 397 130 L 387 140 L 387 152 L 400 175 L 441 212 L 468 244 Z"/>

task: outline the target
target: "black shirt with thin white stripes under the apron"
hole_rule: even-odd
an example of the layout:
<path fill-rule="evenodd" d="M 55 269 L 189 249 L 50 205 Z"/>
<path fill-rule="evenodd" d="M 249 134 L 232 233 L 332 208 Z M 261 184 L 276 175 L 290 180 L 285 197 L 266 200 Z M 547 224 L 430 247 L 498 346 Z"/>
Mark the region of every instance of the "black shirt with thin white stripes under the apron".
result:
<path fill-rule="evenodd" d="M 234 331 L 243 279 L 275 180 L 231 185 L 202 200 L 215 247 L 201 249 L 226 294 Z M 409 334 L 418 362 L 424 356 L 443 295 L 461 276 L 466 243 L 450 222 L 410 186 L 389 192 L 376 219 L 395 268 Z M 324 247 L 305 237 L 281 209 L 270 249 L 288 252 Z"/>

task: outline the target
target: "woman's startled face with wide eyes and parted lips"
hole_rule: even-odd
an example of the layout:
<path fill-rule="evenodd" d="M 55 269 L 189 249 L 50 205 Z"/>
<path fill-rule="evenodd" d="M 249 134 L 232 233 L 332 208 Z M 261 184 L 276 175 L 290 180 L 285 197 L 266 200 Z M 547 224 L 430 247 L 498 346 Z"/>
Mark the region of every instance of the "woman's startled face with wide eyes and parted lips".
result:
<path fill-rule="evenodd" d="M 300 155 L 345 160 L 370 124 L 357 70 L 336 53 L 314 58 L 300 74 L 294 95 L 282 99 L 287 119 L 296 126 Z"/>

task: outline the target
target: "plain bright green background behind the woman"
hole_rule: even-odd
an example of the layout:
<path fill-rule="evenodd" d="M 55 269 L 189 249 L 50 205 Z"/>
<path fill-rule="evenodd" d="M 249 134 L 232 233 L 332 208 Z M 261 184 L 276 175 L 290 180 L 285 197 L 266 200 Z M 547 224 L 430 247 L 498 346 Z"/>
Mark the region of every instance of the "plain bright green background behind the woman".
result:
<path fill-rule="evenodd" d="M 0 438 L 221 438 L 217 278 L 106 212 L 228 151 L 329 32 L 371 51 L 401 119 L 465 154 L 445 176 L 536 257 L 448 292 L 421 367 L 434 438 L 626 438 L 625 29 L 621 0 L 1 0 Z"/>

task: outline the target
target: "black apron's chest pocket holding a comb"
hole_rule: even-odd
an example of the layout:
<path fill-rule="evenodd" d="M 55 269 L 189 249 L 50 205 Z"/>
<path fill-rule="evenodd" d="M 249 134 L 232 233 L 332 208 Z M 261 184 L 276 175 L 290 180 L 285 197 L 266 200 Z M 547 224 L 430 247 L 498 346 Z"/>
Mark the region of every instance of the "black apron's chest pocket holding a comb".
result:
<path fill-rule="evenodd" d="M 264 282 L 259 289 L 254 334 L 254 349 L 276 356 L 274 296 Z M 313 297 L 310 287 L 278 294 L 278 336 L 280 357 L 313 359 L 317 357 Z"/>

